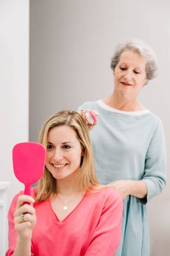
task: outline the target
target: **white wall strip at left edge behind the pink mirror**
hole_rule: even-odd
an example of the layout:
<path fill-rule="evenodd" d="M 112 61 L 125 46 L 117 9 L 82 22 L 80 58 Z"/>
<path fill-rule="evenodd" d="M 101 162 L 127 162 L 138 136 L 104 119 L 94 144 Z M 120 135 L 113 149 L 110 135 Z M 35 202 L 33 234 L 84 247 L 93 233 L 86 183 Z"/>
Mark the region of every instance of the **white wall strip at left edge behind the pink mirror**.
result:
<path fill-rule="evenodd" d="M 10 182 L 8 209 L 24 188 L 13 173 L 12 148 L 29 135 L 29 0 L 0 0 L 0 124 L 0 182 Z M 5 232 L 0 227 L 3 237 Z M 0 244 L 0 255 L 4 248 Z"/>

